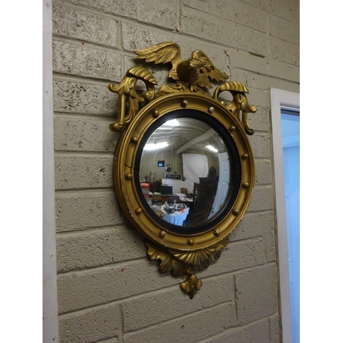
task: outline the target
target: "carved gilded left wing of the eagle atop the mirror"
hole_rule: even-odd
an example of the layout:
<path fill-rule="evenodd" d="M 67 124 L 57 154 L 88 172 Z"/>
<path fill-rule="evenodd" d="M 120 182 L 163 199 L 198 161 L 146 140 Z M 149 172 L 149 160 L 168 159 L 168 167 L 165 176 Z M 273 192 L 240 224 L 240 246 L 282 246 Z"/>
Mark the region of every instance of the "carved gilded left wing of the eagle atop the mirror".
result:
<path fill-rule="evenodd" d="M 137 54 L 137 58 L 141 58 L 146 62 L 155 62 L 155 64 L 171 62 L 173 67 L 171 71 L 169 71 L 169 78 L 180 80 L 176 73 L 176 67 L 182 62 L 182 59 L 180 47 L 176 43 L 163 42 L 145 49 L 134 50 L 134 52 Z"/>

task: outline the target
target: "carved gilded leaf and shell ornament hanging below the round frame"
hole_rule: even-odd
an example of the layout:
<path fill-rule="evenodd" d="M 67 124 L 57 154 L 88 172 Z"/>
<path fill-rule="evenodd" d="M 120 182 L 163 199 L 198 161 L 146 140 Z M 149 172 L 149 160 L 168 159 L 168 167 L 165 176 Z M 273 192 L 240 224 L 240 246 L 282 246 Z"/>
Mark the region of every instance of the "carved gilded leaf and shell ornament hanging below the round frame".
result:
<path fill-rule="evenodd" d="M 222 248 L 228 244 L 228 237 L 225 237 L 219 244 L 202 250 L 191 252 L 179 252 L 163 249 L 155 246 L 150 241 L 145 241 L 147 255 L 150 259 L 161 262 L 159 270 L 162 273 L 170 272 L 173 276 L 189 275 L 189 278 L 180 284 L 184 292 L 193 299 L 196 292 L 200 290 L 202 281 L 195 275 L 196 272 L 205 270 L 211 262 L 219 259 Z"/>

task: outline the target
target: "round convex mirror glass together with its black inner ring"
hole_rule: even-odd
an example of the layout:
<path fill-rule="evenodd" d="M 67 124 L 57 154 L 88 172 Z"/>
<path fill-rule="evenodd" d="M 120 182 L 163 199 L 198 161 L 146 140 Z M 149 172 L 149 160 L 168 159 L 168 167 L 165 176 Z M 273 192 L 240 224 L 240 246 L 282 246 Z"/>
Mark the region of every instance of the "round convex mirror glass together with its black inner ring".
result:
<path fill-rule="evenodd" d="M 156 121 L 137 154 L 136 184 L 142 203 L 167 230 L 199 233 L 230 211 L 241 179 L 228 130 L 191 110 Z M 165 166 L 172 165 L 170 172 Z"/>

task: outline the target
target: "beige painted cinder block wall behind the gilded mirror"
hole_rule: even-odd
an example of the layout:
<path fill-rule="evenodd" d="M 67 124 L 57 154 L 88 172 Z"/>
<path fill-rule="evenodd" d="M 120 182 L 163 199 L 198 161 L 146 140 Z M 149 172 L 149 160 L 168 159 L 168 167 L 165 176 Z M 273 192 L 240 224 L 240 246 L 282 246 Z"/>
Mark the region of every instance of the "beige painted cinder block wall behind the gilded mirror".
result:
<path fill-rule="evenodd" d="M 193 300 L 148 261 L 113 191 L 108 83 L 133 49 L 167 40 L 185 59 L 204 51 L 258 106 L 248 212 Z M 54 1 L 53 66 L 60 342 L 281 342 L 268 88 L 299 91 L 298 1 Z M 147 68 L 167 80 L 167 67 Z"/>

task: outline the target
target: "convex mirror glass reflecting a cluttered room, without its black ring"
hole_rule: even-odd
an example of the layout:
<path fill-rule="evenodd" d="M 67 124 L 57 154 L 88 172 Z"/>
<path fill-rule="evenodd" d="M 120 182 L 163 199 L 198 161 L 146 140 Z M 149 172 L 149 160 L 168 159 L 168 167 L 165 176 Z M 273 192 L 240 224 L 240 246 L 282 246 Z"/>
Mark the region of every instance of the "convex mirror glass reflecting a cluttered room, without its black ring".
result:
<path fill-rule="evenodd" d="M 156 216 L 176 226 L 206 224 L 230 193 L 230 156 L 208 123 L 179 117 L 158 126 L 141 154 L 139 179 Z M 171 172 L 158 161 L 172 165 Z"/>

